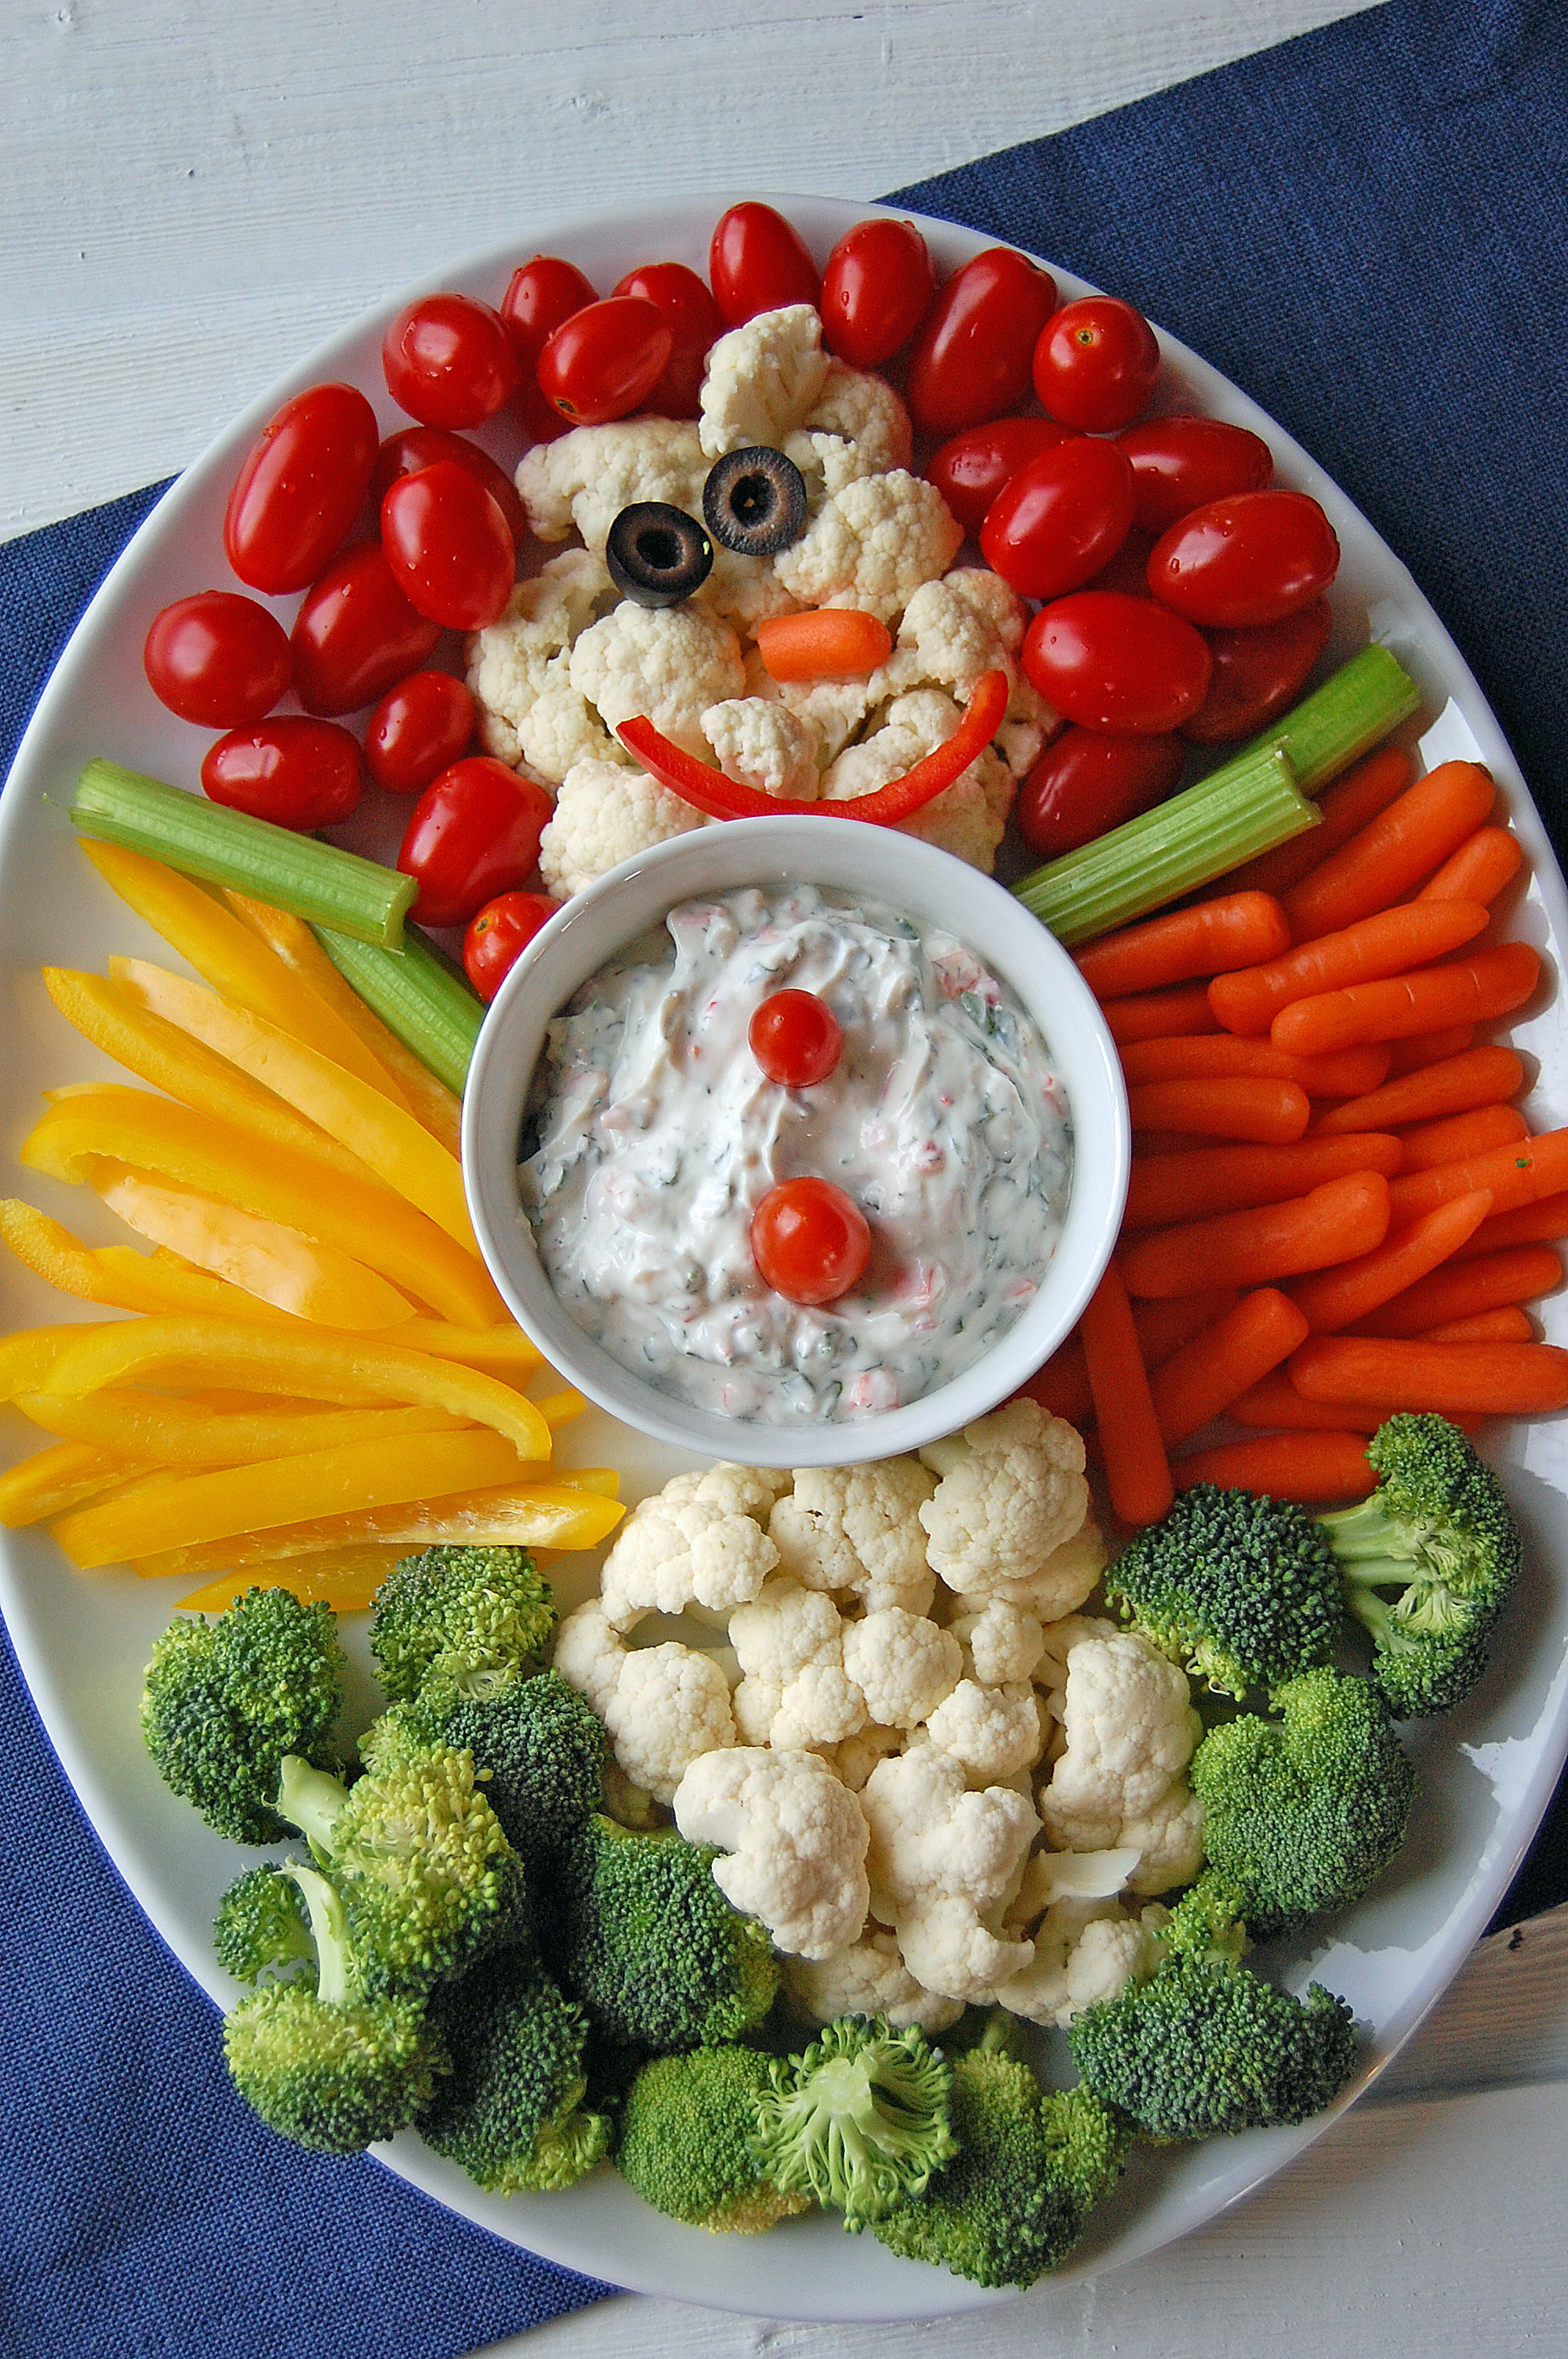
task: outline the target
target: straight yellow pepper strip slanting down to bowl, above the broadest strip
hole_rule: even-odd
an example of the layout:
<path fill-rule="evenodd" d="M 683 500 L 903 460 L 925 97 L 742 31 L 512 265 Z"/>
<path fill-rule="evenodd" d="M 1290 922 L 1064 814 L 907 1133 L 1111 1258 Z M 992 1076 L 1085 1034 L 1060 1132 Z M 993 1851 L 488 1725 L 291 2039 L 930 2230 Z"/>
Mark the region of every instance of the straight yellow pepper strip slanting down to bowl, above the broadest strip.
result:
<path fill-rule="evenodd" d="M 413 1113 L 266 1017 L 231 1007 L 205 984 L 170 974 L 167 967 L 153 967 L 144 958 L 113 958 L 108 972 L 134 1005 L 259 1080 L 479 1257 L 479 1238 L 462 1194 L 462 1163 L 448 1156 Z"/>

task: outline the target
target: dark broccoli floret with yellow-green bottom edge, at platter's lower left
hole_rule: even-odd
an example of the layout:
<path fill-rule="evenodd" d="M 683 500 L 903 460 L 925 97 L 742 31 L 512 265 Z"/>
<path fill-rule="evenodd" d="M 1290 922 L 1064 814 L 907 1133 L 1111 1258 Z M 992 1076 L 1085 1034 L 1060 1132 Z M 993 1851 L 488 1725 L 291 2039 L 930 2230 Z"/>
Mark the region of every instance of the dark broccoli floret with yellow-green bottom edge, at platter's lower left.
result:
<path fill-rule="evenodd" d="M 582 2104 L 587 2017 L 533 1944 L 493 1951 L 429 2000 L 450 2074 L 417 2130 L 479 2187 L 514 2196 L 571 2187 L 608 2154 L 611 2125 Z"/>

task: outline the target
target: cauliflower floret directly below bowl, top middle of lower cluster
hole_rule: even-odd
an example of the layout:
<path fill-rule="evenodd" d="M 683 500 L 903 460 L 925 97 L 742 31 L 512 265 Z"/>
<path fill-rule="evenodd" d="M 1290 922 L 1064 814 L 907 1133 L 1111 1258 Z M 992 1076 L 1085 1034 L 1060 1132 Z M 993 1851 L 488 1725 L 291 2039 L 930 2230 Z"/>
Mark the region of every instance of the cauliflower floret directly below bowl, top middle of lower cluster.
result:
<path fill-rule="evenodd" d="M 868 1611 L 924 1614 L 936 1588 L 917 1510 L 934 1477 L 917 1458 L 863 1467 L 797 1467 L 795 1489 L 769 1517 L 769 1538 L 792 1581 L 858 1597 Z"/>

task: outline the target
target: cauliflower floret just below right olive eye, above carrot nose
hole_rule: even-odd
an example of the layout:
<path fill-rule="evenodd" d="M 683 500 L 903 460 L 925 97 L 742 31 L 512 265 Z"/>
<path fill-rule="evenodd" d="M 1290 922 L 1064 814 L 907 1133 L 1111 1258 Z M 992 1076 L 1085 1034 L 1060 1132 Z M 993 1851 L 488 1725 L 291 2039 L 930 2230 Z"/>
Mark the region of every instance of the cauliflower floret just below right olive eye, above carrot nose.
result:
<path fill-rule="evenodd" d="M 896 623 L 915 590 L 948 571 L 962 538 L 936 486 L 898 467 L 835 491 L 773 566 L 809 606 L 863 606 Z"/>

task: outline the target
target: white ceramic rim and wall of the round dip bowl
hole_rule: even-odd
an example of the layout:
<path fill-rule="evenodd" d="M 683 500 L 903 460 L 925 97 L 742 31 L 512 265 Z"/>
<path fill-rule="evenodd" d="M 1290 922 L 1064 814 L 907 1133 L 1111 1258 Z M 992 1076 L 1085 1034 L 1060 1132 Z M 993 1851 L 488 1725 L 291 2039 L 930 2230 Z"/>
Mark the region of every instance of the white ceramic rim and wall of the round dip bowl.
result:
<path fill-rule="evenodd" d="M 868 837 L 875 837 L 868 842 Z M 969 1368 L 915 1401 L 823 1425 L 724 1418 L 622 1368 L 556 1300 L 516 1198 L 516 1135 L 547 1021 L 677 901 L 745 885 L 809 882 L 865 894 L 983 944 L 986 965 L 1042 1026 L 1073 1109 L 1073 1182 L 1049 1274 Z M 1042 1005 L 1052 998 L 1052 1007 Z M 780 814 L 696 828 L 620 861 L 535 934 L 483 1019 L 462 1104 L 469 1217 L 507 1307 L 549 1364 L 639 1432 L 707 1458 L 858 1465 L 953 1434 L 1014 1394 L 1078 1323 L 1115 1246 L 1132 1128 L 1106 1019 L 1054 934 L 979 868 L 891 828 Z"/>

